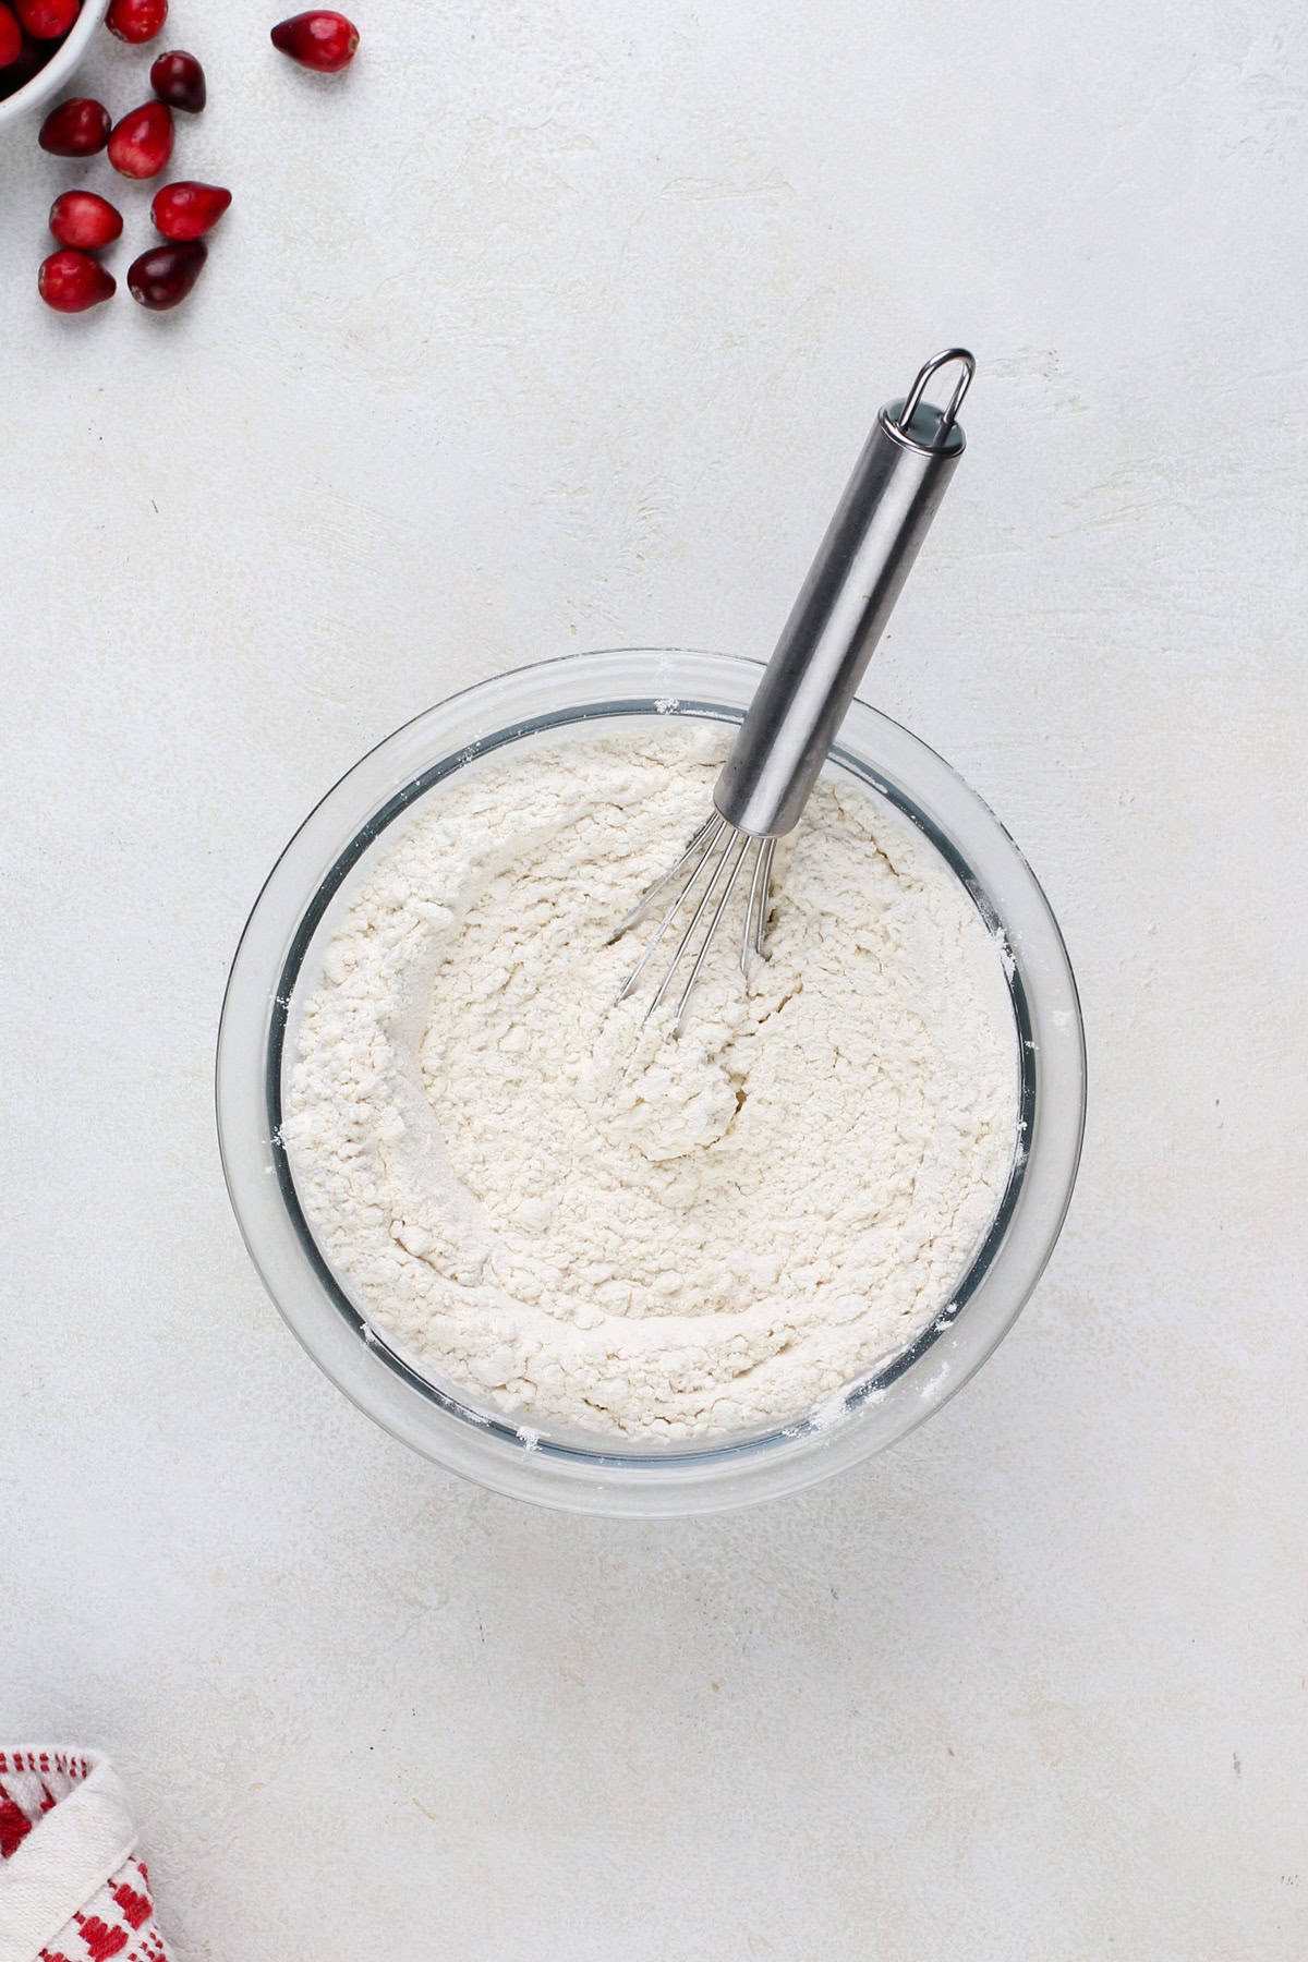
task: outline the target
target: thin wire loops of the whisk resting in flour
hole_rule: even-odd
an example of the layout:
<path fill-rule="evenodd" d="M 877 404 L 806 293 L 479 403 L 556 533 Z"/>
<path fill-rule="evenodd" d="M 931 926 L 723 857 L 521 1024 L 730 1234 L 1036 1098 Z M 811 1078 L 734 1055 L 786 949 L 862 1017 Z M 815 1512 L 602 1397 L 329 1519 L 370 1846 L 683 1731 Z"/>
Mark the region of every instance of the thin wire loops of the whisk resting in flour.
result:
<path fill-rule="evenodd" d="M 673 1028 L 680 1026 L 694 983 L 700 979 L 700 969 L 704 967 L 708 950 L 718 928 L 722 926 L 726 910 L 731 903 L 731 893 L 739 885 L 745 865 L 749 865 L 749 895 L 745 899 L 745 922 L 739 942 L 739 971 L 741 979 L 749 981 L 751 961 L 755 957 L 767 959 L 763 952 L 763 928 L 767 924 L 775 852 L 775 838 L 753 838 L 749 832 L 739 832 L 714 810 L 714 814 L 698 828 L 677 863 L 665 871 L 661 879 L 655 879 L 635 906 L 631 906 L 626 920 L 620 920 L 608 936 L 606 946 L 612 946 L 614 940 L 622 940 L 622 936 L 635 926 L 637 920 L 645 918 L 649 908 L 661 897 L 675 891 L 675 899 L 659 920 L 653 940 L 628 979 L 622 983 L 618 1001 L 626 1001 L 628 995 L 633 993 L 659 946 L 675 928 L 680 926 L 680 934 L 663 971 L 663 979 L 659 981 L 653 1001 L 645 1010 L 645 1020 L 649 1020 L 661 1003 L 669 999 L 680 973 L 684 973 L 680 995 L 677 997 L 677 1014 L 673 1016 Z M 690 963 L 688 971 L 684 971 L 686 961 Z"/>

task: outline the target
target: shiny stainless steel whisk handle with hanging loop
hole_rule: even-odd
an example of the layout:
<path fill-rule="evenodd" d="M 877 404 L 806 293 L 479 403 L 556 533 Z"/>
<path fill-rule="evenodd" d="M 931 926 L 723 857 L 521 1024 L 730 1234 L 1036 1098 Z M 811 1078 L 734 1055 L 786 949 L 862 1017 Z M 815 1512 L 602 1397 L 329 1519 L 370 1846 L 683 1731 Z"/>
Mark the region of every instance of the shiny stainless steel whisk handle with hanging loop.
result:
<path fill-rule="evenodd" d="M 951 361 L 963 373 L 933 408 L 924 388 Z M 737 830 L 780 838 L 798 824 L 963 455 L 955 414 L 973 371 L 971 353 L 949 347 L 877 416 L 718 777 L 714 804 Z"/>

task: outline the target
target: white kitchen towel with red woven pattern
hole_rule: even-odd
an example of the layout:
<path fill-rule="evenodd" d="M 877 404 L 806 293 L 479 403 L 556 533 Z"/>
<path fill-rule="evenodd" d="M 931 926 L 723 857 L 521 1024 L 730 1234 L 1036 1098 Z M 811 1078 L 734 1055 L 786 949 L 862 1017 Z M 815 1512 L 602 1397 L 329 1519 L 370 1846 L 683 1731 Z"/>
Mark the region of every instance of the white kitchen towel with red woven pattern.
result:
<path fill-rule="evenodd" d="M 96 1750 L 0 1750 L 0 1962 L 169 1962 L 137 1831 Z"/>

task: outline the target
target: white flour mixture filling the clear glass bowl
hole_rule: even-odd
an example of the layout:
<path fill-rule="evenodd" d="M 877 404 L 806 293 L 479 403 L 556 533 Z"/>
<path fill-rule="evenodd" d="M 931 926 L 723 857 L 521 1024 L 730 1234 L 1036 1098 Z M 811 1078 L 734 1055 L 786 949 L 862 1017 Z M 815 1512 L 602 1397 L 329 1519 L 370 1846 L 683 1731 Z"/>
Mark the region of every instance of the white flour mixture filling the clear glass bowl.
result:
<path fill-rule="evenodd" d="M 663 722 L 453 779 L 371 867 L 306 1005 L 282 1136 L 326 1260 L 528 1430 L 796 1417 L 947 1307 L 1008 1181 L 1000 948 L 849 779 L 782 842 L 747 995 L 724 932 L 679 1036 L 616 1005 L 653 922 L 606 936 L 722 753 Z"/>

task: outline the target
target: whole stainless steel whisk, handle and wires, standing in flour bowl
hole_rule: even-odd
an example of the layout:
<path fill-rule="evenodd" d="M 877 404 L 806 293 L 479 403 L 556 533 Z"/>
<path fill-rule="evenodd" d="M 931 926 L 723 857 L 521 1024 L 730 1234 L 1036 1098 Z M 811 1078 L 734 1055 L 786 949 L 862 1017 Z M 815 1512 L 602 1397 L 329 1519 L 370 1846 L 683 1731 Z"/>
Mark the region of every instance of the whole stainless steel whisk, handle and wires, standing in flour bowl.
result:
<path fill-rule="evenodd" d="M 963 373 L 949 406 L 935 408 L 924 400 L 924 392 L 931 375 L 951 361 L 961 363 Z M 877 416 L 777 649 L 763 669 L 731 753 L 722 765 L 714 785 L 712 814 L 677 863 L 639 897 L 626 920 L 608 936 L 612 946 L 661 895 L 677 889 L 653 940 L 618 993 L 618 1001 L 633 993 L 657 948 L 680 926 L 645 1020 L 667 1001 L 688 959 L 690 969 L 673 1018 L 673 1026 L 680 1026 L 747 863 L 751 863 L 749 897 L 739 944 L 745 983 L 751 959 L 763 955 L 777 840 L 800 820 L 873 647 L 945 494 L 945 485 L 963 455 L 965 438 L 955 418 L 975 369 L 977 363 L 967 347 L 949 347 L 918 371 L 902 402 L 886 402 Z"/>

